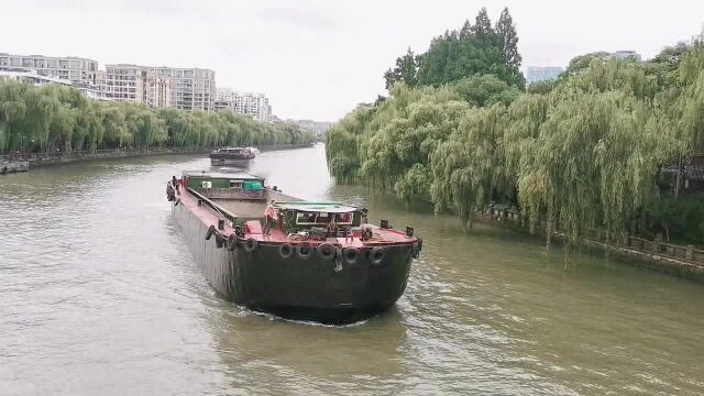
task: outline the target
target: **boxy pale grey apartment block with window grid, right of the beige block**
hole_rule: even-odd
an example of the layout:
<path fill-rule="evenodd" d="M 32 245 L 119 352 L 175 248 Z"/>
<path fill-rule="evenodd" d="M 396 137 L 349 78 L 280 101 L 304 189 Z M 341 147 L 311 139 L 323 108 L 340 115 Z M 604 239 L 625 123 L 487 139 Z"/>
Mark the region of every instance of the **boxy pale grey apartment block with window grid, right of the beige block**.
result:
<path fill-rule="evenodd" d="M 182 110 L 213 111 L 216 73 L 201 68 L 152 67 L 163 78 L 170 78 L 170 105 Z"/>

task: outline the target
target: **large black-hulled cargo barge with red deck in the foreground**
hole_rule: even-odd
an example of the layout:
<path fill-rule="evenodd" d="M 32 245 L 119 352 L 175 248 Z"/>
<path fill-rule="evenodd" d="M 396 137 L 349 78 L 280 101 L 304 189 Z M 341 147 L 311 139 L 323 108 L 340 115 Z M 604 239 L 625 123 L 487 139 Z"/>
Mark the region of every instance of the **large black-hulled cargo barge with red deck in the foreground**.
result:
<path fill-rule="evenodd" d="M 304 201 L 257 176 L 185 172 L 177 185 L 173 212 L 208 282 L 256 311 L 332 324 L 370 318 L 398 300 L 422 250 L 410 227 L 369 224 L 364 208 Z"/>

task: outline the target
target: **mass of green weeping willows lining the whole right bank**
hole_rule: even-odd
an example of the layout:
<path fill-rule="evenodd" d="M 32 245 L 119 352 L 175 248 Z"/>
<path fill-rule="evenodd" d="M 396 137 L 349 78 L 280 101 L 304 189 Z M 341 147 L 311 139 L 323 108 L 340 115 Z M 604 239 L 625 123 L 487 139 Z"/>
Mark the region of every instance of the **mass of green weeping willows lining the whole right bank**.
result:
<path fill-rule="evenodd" d="M 433 45 L 491 35 L 482 13 Z M 427 55 L 421 84 L 437 54 Z M 587 54 L 529 94 L 501 76 L 437 82 L 396 85 L 332 129 L 333 176 L 430 201 L 465 224 L 492 201 L 517 205 L 529 226 L 544 221 L 571 243 L 596 228 L 704 240 L 704 205 L 680 205 L 659 188 L 666 168 L 704 152 L 701 45 L 666 48 L 647 63 Z"/>

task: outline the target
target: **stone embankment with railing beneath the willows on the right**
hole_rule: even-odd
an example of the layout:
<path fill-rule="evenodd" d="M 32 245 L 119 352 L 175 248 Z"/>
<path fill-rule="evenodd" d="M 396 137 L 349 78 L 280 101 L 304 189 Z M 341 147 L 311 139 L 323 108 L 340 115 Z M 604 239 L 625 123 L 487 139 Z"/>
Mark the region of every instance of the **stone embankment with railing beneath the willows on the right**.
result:
<path fill-rule="evenodd" d="M 476 219 L 518 232 L 527 231 L 521 223 L 520 213 L 514 210 L 490 208 L 477 212 Z M 544 228 L 539 228 L 537 233 L 544 237 Z M 561 232 L 554 232 L 552 239 L 558 243 L 566 243 L 566 235 Z M 580 248 L 596 254 L 608 252 L 635 266 L 704 283 L 704 250 L 695 249 L 693 245 L 678 245 L 636 237 L 608 240 L 604 232 L 594 231 L 581 241 Z"/>

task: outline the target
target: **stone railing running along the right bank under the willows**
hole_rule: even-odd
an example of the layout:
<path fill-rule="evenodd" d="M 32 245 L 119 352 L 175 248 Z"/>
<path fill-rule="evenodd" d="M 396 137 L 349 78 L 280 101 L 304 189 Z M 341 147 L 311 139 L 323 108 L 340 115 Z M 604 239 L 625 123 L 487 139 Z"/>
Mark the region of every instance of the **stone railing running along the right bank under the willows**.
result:
<path fill-rule="evenodd" d="M 479 213 L 485 218 L 488 218 L 495 222 L 509 221 L 514 224 L 520 224 L 521 217 L 516 210 L 501 209 L 496 207 L 486 208 L 483 212 Z M 541 230 L 544 231 L 544 222 L 540 224 Z M 562 233 L 557 231 L 556 234 Z M 704 267 L 704 250 L 695 249 L 694 245 L 678 245 L 673 243 L 663 242 L 660 240 L 647 240 L 637 237 L 624 237 L 617 240 L 609 240 L 606 232 L 601 230 L 588 231 L 585 240 L 591 242 L 597 242 L 601 244 L 610 245 L 614 248 L 629 249 L 640 252 L 642 254 L 653 254 L 667 258 L 673 258 L 683 261 L 690 264 L 695 264 Z"/>

